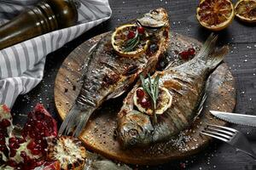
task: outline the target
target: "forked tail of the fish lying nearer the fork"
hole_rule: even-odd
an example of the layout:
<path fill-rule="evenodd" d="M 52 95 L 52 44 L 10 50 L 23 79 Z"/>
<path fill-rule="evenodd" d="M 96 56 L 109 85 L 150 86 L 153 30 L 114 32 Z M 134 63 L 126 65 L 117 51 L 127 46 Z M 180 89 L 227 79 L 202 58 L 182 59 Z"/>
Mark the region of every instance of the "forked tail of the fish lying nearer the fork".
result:
<path fill-rule="evenodd" d="M 225 54 L 229 52 L 228 46 L 216 49 L 217 39 L 218 36 L 212 33 L 203 44 L 200 52 L 195 56 L 195 59 L 205 61 L 210 70 L 216 68 L 223 61 Z"/>

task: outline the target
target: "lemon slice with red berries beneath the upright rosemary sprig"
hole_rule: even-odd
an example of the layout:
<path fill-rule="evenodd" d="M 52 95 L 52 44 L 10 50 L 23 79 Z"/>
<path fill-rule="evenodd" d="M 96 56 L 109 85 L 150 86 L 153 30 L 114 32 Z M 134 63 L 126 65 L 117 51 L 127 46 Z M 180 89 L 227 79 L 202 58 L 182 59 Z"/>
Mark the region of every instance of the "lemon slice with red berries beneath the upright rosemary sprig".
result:
<path fill-rule="evenodd" d="M 133 95 L 134 105 L 137 106 L 138 111 L 146 113 L 152 116 L 153 110 L 150 103 L 150 98 L 143 88 L 137 88 L 135 94 Z M 172 95 L 169 93 L 167 88 L 159 88 L 159 97 L 157 99 L 157 106 L 155 114 L 163 114 L 172 105 Z"/>

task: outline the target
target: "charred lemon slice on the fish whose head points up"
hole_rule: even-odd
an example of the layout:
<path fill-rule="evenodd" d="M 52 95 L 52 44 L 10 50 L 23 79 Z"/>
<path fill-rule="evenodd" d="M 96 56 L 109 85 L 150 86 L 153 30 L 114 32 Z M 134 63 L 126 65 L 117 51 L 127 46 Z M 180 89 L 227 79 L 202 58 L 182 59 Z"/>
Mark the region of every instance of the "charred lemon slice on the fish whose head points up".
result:
<path fill-rule="evenodd" d="M 111 37 L 111 43 L 113 49 L 122 57 L 137 57 L 142 54 L 148 48 L 149 40 L 147 39 L 148 33 L 146 31 L 143 34 L 139 35 L 139 41 L 135 44 L 134 48 L 129 51 L 125 51 L 125 45 L 127 41 L 129 41 L 129 32 L 134 32 L 136 35 L 137 32 L 137 25 L 136 24 L 129 24 L 124 26 L 119 26 L 113 32 Z"/>

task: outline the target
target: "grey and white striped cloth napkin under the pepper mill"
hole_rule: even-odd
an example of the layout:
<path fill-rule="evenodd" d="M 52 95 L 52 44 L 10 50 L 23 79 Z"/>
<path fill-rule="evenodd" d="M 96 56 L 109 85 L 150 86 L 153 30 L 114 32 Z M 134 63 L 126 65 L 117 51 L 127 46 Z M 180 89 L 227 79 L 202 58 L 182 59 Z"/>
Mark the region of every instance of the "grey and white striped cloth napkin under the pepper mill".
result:
<path fill-rule="evenodd" d="M 79 24 L 52 31 L 0 50 L 0 104 L 14 105 L 19 94 L 35 88 L 44 76 L 46 55 L 79 37 L 112 14 L 108 0 L 79 0 Z M 38 0 L 0 0 L 0 26 Z M 1 38 L 1 37 L 0 37 Z"/>

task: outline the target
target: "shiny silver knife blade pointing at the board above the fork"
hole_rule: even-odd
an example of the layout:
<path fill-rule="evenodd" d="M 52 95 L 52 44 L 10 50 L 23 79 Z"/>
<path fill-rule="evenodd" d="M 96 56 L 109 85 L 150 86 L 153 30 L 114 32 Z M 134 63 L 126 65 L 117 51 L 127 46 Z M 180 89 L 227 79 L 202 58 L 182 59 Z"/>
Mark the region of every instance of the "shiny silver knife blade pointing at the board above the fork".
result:
<path fill-rule="evenodd" d="M 210 111 L 213 116 L 217 116 L 227 122 L 247 125 L 251 127 L 256 127 L 256 116 L 253 115 L 243 115 L 238 113 L 229 113 L 224 111 Z"/>

